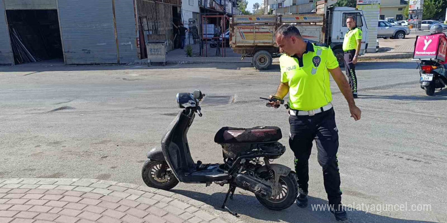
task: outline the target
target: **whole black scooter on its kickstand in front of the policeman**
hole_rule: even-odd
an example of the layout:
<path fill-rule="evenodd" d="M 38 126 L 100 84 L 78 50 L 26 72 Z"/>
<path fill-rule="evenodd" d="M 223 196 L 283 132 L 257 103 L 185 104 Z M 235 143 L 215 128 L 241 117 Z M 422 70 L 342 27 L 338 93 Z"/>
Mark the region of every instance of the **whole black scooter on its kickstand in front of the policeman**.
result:
<path fill-rule="evenodd" d="M 222 147 L 223 163 L 193 161 L 187 132 L 196 114 L 202 116 L 199 103 L 204 96 L 199 90 L 177 94 L 178 106 L 183 110 L 169 125 L 161 146 L 147 154 L 148 160 L 142 169 L 146 185 L 170 190 L 179 181 L 204 183 L 206 186 L 214 182 L 222 187 L 228 184 L 222 208 L 235 216 L 237 213 L 231 211 L 226 203 L 230 194 L 233 198 L 236 188 L 254 193 L 258 201 L 269 209 L 290 207 L 298 195 L 296 174 L 289 167 L 270 163 L 285 152 L 285 146 L 278 142 L 282 138 L 278 127 L 223 127 L 214 137 Z"/>

